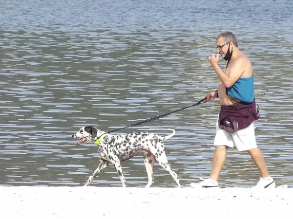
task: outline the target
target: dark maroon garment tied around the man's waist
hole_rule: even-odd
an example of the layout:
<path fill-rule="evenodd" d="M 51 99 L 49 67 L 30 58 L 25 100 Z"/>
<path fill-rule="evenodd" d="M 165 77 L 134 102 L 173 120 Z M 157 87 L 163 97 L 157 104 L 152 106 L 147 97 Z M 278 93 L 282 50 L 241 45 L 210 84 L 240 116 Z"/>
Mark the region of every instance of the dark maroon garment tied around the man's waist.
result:
<path fill-rule="evenodd" d="M 255 99 L 251 103 L 238 103 L 233 106 L 222 106 L 219 113 L 219 128 L 229 133 L 247 128 L 259 119 L 259 107 Z"/>

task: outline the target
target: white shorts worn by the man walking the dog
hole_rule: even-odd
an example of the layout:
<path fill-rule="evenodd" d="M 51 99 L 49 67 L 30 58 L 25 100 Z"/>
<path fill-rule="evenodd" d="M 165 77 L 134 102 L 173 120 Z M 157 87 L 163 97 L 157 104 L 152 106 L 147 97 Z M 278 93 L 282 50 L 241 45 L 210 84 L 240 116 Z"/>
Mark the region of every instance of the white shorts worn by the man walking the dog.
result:
<path fill-rule="evenodd" d="M 238 151 L 250 150 L 257 147 L 254 135 L 254 123 L 251 123 L 247 128 L 229 133 L 224 129 L 219 128 L 219 121 L 217 119 L 214 146 L 221 145 L 229 146 L 231 148 L 235 145 Z"/>

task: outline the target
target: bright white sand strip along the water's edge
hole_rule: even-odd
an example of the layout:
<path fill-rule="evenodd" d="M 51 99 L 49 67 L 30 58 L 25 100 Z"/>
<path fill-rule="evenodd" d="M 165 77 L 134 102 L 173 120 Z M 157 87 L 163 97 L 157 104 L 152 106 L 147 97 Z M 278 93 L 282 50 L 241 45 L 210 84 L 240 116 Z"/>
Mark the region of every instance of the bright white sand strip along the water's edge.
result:
<path fill-rule="evenodd" d="M 0 186 L 1 219 L 292 219 L 293 188 Z"/>

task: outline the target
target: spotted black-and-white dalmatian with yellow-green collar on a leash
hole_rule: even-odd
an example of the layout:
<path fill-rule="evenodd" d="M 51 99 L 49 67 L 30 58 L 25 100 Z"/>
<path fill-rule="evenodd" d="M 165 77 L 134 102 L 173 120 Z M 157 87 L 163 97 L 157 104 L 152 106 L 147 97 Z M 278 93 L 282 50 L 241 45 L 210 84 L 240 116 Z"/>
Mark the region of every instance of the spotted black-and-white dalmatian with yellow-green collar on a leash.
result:
<path fill-rule="evenodd" d="M 181 187 L 177 174 L 171 169 L 165 154 L 164 141 L 175 134 L 174 129 L 169 130 L 172 130 L 173 133 L 161 137 L 150 132 L 112 135 L 91 126 L 81 128 L 76 134 L 72 135 L 72 138 L 79 140 L 76 144 L 82 145 L 87 141 L 95 142 L 100 153 L 100 164 L 84 186 L 89 185 L 94 178 L 111 163 L 116 168 L 123 187 L 126 187 L 126 180 L 123 176 L 120 163 L 139 153 L 143 153 L 145 155 L 145 165 L 148 176 L 146 187 L 151 186 L 154 182 L 153 165 L 155 160 L 171 174 L 178 187 Z"/>

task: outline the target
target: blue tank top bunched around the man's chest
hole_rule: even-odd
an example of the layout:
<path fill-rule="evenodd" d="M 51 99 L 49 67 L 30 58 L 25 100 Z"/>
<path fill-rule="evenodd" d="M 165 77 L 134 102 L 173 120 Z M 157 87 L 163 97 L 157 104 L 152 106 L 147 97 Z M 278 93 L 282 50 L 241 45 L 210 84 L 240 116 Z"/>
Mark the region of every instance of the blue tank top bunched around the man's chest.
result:
<path fill-rule="evenodd" d="M 240 77 L 233 86 L 226 88 L 227 95 L 245 103 L 251 103 L 254 100 L 253 80 L 254 74 L 251 77 Z"/>

